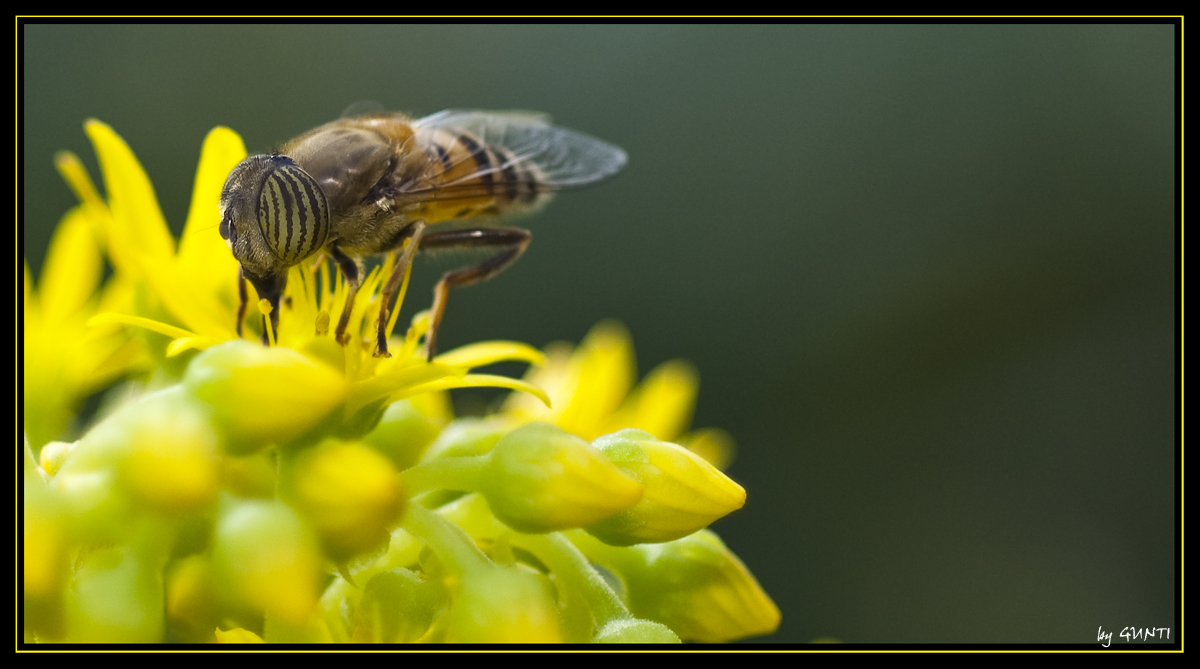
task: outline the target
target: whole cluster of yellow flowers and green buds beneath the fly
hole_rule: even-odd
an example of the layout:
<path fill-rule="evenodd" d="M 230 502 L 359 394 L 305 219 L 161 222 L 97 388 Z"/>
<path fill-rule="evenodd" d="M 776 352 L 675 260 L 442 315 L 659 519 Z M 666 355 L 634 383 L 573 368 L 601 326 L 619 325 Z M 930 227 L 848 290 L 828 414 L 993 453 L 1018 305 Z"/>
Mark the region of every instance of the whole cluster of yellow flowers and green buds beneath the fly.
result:
<path fill-rule="evenodd" d="M 778 626 L 706 529 L 745 492 L 718 466 L 730 438 L 685 432 L 689 366 L 634 388 L 616 324 L 576 349 L 485 342 L 426 362 L 424 314 L 377 358 L 386 263 L 349 344 L 329 332 L 346 288 L 324 261 L 293 270 L 276 345 L 238 339 L 214 203 L 240 138 L 210 133 L 176 245 L 125 143 L 86 131 L 108 197 L 60 156 L 82 204 L 36 284 L 25 269 L 26 641 L 677 643 Z M 534 367 L 474 372 L 499 361 Z M 54 441 L 120 379 L 98 422 Z M 514 392 L 454 418 L 445 391 L 476 386 Z"/>

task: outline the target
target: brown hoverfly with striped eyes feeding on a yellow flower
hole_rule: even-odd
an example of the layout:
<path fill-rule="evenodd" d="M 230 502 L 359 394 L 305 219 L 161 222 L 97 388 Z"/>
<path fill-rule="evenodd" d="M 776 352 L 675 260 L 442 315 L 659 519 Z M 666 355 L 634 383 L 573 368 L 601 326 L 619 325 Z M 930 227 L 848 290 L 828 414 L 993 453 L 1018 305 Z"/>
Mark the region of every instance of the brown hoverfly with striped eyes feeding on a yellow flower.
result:
<path fill-rule="evenodd" d="M 538 114 L 468 110 L 418 120 L 392 113 L 340 119 L 274 153 L 251 156 L 229 173 L 221 193 L 221 236 L 240 265 L 238 336 L 246 281 L 271 303 L 270 325 L 277 331 L 288 269 L 324 251 L 348 284 L 336 330 L 344 345 L 362 258 L 400 252 L 384 284 L 377 329 L 376 355 L 388 356 L 389 306 L 418 249 L 499 249 L 437 283 L 425 339 L 432 360 L 450 289 L 500 273 L 532 239 L 528 230 L 472 225 L 474 219 L 532 211 L 554 191 L 616 174 L 625 159 L 619 147 Z M 456 221 L 468 225 L 428 230 Z"/>

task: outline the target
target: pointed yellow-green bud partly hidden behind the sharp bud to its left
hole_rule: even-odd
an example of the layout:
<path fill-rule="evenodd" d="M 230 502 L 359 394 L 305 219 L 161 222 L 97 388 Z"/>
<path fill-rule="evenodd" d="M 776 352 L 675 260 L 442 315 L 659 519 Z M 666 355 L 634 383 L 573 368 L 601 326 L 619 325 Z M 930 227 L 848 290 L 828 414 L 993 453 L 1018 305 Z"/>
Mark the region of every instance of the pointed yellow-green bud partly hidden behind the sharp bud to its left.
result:
<path fill-rule="evenodd" d="M 634 507 L 587 528 L 605 543 L 631 546 L 685 537 L 742 508 L 746 493 L 691 451 L 623 429 L 593 441 L 600 452 L 644 488 Z"/>

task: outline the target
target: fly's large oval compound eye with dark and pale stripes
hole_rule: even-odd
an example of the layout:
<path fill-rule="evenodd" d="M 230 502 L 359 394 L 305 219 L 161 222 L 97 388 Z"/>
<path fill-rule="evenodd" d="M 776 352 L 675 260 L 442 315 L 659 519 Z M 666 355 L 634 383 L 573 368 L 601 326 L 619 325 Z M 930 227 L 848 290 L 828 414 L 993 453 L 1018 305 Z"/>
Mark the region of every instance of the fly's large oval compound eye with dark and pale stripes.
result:
<path fill-rule="evenodd" d="M 258 227 L 268 248 L 295 265 L 325 245 L 329 203 L 317 181 L 287 156 L 270 156 L 271 168 L 258 195 Z"/>

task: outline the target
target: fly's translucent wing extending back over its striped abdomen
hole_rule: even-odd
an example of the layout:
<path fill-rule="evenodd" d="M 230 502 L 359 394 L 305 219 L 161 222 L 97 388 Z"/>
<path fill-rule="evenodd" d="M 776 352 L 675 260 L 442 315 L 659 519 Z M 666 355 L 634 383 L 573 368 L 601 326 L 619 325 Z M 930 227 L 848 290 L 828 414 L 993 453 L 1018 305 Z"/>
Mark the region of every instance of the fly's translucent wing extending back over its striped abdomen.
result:
<path fill-rule="evenodd" d="M 539 186 L 559 189 L 587 186 L 612 176 L 625 165 L 620 147 L 594 137 L 554 126 L 534 112 L 473 112 L 446 109 L 413 123 L 421 131 L 445 129 L 468 133 L 486 146 L 503 147 L 505 161 L 472 176 L 503 173 L 518 165 L 535 165 Z M 454 169 L 448 165 L 448 171 Z"/>

